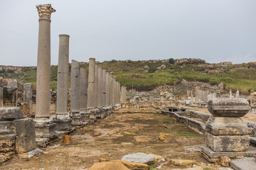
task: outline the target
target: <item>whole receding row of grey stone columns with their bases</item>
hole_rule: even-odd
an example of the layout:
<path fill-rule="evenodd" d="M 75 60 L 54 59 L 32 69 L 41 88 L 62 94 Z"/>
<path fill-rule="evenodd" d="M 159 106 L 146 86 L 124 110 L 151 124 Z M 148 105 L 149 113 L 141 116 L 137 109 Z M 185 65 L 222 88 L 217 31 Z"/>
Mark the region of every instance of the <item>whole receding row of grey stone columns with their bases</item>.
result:
<path fill-rule="evenodd" d="M 49 137 L 56 130 L 83 125 L 90 110 L 120 103 L 120 84 L 110 70 L 102 69 L 90 58 L 89 72 L 72 60 L 70 114 L 68 113 L 69 35 L 59 35 L 57 107 L 50 120 L 50 4 L 38 5 L 38 64 L 36 75 L 36 135 Z M 104 109 L 103 109 L 104 110 Z M 72 118 L 72 119 L 70 119 Z M 53 123 L 54 122 L 54 123 Z M 42 134 L 43 132 L 43 134 Z"/>

